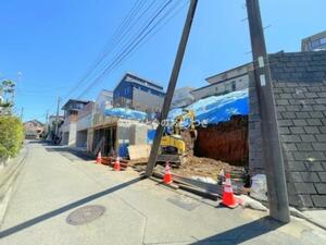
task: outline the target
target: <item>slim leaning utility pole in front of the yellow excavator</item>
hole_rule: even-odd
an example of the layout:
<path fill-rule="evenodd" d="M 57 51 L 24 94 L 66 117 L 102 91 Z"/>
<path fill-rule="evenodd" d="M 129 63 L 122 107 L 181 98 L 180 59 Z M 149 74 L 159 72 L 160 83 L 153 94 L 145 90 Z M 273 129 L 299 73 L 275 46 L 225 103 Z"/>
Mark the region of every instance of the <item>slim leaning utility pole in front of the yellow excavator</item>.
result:
<path fill-rule="evenodd" d="M 148 161 L 148 164 L 147 164 L 146 176 L 151 176 L 152 175 L 155 163 L 156 163 L 158 151 L 159 151 L 159 147 L 161 145 L 161 138 L 163 136 L 163 131 L 164 131 L 164 126 L 162 125 L 162 122 L 164 120 L 166 120 L 167 114 L 168 114 L 171 101 L 172 101 L 172 98 L 173 98 L 173 94 L 174 94 L 174 89 L 175 89 L 177 78 L 178 78 L 178 75 L 179 75 L 179 71 L 180 71 L 180 68 L 181 68 L 181 63 L 183 63 L 183 59 L 184 59 L 188 37 L 189 37 L 189 34 L 190 34 L 191 24 L 192 24 L 192 21 L 193 21 L 197 3 L 198 3 L 198 0 L 191 0 L 190 5 L 189 5 L 186 23 L 185 23 L 184 30 L 183 30 L 183 36 L 181 36 L 179 47 L 178 47 L 178 51 L 177 51 L 177 54 L 176 54 L 176 58 L 175 58 L 175 61 L 174 61 L 174 66 L 173 66 L 173 71 L 172 71 L 172 74 L 171 74 L 171 77 L 170 77 L 167 91 L 166 91 L 164 102 L 163 102 L 163 107 L 162 107 L 162 111 L 161 111 L 161 114 L 160 114 L 160 118 L 159 118 L 159 126 L 156 128 L 156 134 L 155 134 L 154 140 L 153 140 L 153 145 L 152 145 L 152 148 L 151 148 L 149 161 Z"/>

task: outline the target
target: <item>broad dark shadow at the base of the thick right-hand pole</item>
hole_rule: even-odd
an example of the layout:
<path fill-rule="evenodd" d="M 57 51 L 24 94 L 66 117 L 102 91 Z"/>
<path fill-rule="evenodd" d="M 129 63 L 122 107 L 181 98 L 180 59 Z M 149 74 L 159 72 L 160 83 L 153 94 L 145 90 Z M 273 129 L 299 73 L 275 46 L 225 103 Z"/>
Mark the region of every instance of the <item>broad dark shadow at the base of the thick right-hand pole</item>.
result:
<path fill-rule="evenodd" d="M 269 217 L 263 217 L 259 220 L 246 223 L 220 234 L 213 235 L 205 240 L 192 243 L 192 245 L 209 245 L 209 244 L 240 244 L 251 238 L 264 235 L 284 225 Z"/>

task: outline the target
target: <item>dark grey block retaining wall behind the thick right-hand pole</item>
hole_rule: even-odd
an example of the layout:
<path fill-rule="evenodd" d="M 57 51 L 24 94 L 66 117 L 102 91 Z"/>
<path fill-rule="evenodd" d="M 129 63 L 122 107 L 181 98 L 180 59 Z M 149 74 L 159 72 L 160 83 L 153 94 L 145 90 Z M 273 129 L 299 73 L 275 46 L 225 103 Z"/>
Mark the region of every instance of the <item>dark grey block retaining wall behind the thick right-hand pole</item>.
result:
<path fill-rule="evenodd" d="M 289 201 L 326 208 L 326 51 L 269 54 Z M 260 117 L 250 79 L 250 171 L 263 172 Z"/>

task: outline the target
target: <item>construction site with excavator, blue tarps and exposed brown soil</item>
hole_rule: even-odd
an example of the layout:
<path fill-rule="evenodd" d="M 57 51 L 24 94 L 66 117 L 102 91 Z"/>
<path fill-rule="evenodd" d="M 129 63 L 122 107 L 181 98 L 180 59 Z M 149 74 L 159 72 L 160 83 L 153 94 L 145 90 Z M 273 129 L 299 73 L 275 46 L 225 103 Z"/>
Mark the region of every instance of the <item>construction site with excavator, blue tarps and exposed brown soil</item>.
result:
<path fill-rule="evenodd" d="M 168 166 L 174 185 L 217 198 L 224 174 L 228 173 L 240 193 L 249 170 L 248 106 L 244 89 L 170 110 L 154 176 L 163 177 Z M 145 173 L 156 127 L 158 121 L 148 120 L 141 111 L 106 109 L 103 115 L 93 117 L 88 152 L 98 163 L 114 168 L 118 159 L 118 170 L 133 168 Z"/>

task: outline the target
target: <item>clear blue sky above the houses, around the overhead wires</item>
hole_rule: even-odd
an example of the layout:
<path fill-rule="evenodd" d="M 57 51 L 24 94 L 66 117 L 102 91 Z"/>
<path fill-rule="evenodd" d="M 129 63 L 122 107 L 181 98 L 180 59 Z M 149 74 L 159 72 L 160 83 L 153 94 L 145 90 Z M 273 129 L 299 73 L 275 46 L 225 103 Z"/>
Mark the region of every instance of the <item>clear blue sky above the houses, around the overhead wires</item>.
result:
<path fill-rule="evenodd" d="M 57 98 L 80 81 L 136 1 L 0 1 L 0 77 L 17 82 L 15 110 L 24 107 L 24 120 L 45 121 L 48 109 L 54 113 Z M 260 2 L 264 26 L 271 25 L 265 29 L 268 52 L 299 51 L 301 38 L 326 29 L 325 0 Z M 127 71 L 166 87 L 186 12 L 185 5 L 83 98 L 113 89 Z M 246 17 L 244 0 L 199 0 L 178 87 L 204 86 L 205 77 L 251 60 Z M 70 98 L 78 97 L 92 81 Z"/>

